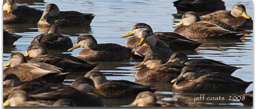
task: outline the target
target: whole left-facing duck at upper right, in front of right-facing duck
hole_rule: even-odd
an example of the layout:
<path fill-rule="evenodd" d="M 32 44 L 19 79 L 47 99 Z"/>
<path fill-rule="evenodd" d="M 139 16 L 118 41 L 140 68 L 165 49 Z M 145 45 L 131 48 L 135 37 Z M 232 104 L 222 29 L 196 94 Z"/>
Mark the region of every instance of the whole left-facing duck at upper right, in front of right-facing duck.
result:
<path fill-rule="evenodd" d="M 185 12 L 179 24 L 174 30 L 175 33 L 190 39 L 240 39 L 244 34 L 229 31 L 210 21 L 200 21 L 195 12 Z"/>

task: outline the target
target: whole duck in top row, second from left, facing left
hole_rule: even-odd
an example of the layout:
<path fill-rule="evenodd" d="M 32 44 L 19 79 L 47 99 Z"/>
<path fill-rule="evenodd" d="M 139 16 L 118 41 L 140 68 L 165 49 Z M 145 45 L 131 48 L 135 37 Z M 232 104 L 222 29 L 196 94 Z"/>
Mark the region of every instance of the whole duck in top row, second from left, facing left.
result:
<path fill-rule="evenodd" d="M 94 16 L 91 13 L 59 11 L 59 7 L 56 4 L 47 4 L 46 11 L 37 26 L 51 27 L 53 24 L 59 24 L 61 27 L 89 27 Z"/>

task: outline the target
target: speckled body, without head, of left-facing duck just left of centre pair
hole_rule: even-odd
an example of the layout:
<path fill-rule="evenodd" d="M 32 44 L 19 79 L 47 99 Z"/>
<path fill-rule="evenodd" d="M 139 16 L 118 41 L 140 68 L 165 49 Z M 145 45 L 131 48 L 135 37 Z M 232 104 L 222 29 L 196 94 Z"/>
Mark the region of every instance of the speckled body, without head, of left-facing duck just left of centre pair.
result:
<path fill-rule="evenodd" d="M 118 44 L 98 44 L 98 49 L 83 49 L 76 56 L 89 62 L 107 62 L 130 59 L 130 49 Z"/>

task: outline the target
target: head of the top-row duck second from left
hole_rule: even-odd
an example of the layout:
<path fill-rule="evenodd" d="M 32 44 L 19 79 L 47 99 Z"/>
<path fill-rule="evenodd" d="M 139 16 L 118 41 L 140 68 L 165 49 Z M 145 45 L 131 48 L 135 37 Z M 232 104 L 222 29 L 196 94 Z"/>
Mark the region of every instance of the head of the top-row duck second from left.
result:
<path fill-rule="evenodd" d="M 59 7 L 56 4 L 47 4 L 46 11 L 42 15 L 41 20 L 47 19 L 47 17 L 56 17 L 59 16 Z"/>

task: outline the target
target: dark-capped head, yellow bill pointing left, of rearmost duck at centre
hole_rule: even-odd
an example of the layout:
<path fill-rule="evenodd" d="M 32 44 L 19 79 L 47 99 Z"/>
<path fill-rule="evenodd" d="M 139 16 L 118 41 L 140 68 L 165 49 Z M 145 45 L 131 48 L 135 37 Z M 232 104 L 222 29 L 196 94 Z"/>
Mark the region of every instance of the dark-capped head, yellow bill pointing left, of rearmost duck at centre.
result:
<path fill-rule="evenodd" d="M 153 30 L 152 28 L 148 25 L 148 24 L 145 24 L 145 23 L 137 23 L 135 24 L 133 27 L 132 27 L 132 30 L 130 32 L 128 32 L 127 34 L 124 34 L 123 36 L 121 37 L 128 37 L 128 36 L 137 36 L 137 37 L 141 37 L 140 36 L 140 33 L 142 31 L 151 31 L 153 33 Z"/>

